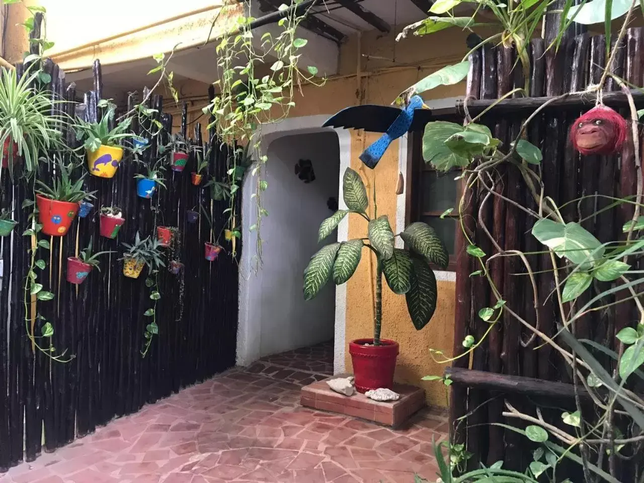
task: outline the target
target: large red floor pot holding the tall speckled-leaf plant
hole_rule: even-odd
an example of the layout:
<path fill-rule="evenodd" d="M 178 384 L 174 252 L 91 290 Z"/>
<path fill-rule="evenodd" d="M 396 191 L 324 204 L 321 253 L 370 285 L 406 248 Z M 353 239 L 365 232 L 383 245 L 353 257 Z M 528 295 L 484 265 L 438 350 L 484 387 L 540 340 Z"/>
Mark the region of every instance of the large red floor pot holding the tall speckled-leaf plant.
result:
<path fill-rule="evenodd" d="M 349 343 L 349 354 L 354 365 L 355 388 L 365 393 L 371 389 L 393 386 L 393 371 L 399 346 L 397 342 L 380 339 L 382 345 L 373 344 L 374 339 L 355 339 Z"/>

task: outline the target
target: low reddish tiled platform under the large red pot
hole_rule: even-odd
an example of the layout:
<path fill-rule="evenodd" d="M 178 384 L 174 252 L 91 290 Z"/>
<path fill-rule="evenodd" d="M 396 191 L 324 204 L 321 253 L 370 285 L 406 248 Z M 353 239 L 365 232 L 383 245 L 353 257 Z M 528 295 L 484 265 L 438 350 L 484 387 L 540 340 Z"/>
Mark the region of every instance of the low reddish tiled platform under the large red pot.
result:
<path fill-rule="evenodd" d="M 330 379 L 347 377 L 348 375 L 350 374 L 334 375 L 323 381 L 317 381 L 303 387 L 300 393 L 302 406 L 360 417 L 368 421 L 393 426 L 394 428 L 399 427 L 413 413 L 425 406 L 424 390 L 414 386 L 394 384 L 393 390 L 401 395 L 401 399 L 381 403 L 373 401 L 361 393 L 356 393 L 351 397 L 339 394 L 331 390 L 326 382 Z"/>

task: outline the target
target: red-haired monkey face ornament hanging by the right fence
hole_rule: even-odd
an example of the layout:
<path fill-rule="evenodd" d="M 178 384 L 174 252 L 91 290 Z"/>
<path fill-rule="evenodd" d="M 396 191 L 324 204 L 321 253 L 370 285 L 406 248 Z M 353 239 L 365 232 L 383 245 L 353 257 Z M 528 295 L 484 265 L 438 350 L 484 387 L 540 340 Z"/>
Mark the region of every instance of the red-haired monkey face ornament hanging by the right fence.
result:
<path fill-rule="evenodd" d="M 600 104 L 574 122 L 570 138 L 582 155 L 612 155 L 621 150 L 626 140 L 626 121 Z"/>

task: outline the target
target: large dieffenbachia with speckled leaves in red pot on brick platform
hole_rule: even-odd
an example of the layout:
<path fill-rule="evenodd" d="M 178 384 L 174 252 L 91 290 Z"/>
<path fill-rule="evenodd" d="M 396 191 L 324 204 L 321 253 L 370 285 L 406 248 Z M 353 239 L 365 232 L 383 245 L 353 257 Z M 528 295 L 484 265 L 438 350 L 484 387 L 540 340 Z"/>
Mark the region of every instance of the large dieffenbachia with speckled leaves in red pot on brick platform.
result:
<path fill-rule="evenodd" d="M 319 240 L 329 236 L 349 213 L 368 220 L 366 238 L 331 243 L 312 256 L 304 270 L 304 297 L 314 298 L 330 279 L 340 285 L 350 279 L 360 263 L 364 248 L 376 260 L 374 334 L 368 339 L 356 339 L 349 344 L 354 366 L 355 388 L 359 392 L 391 388 L 399 345 L 381 339 L 383 307 L 383 274 L 395 294 L 404 294 L 407 310 L 417 330 L 425 327 L 436 308 L 436 278 L 430 262 L 446 267 L 449 258 L 444 244 L 426 223 L 412 223 L 395 236 L 400 236 L 409 249 L 394 247 L 395 236 L 386 215 L 370 218 L 368 199 L 360 175 L 347 168 L 343 177 L 343 196 L 347 209 L 341 209 L 324 220 Z M 374 199 L 375 207 L 375 199 Z"/>

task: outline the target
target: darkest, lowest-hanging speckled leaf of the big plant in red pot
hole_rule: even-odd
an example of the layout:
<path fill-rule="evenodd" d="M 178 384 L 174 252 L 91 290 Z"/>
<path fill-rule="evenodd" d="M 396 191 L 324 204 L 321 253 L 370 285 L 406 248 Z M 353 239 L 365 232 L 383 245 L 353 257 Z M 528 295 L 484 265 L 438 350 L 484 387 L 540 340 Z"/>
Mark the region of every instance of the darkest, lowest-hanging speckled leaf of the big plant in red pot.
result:
<path fill-rule="evenodd" d="M 421 330 L 430 321 L 436 310 L 436 277 L 429 265 L 421 258 L 412 258 L 410 289 L 405 294 L 407 310 L 412 317 L 413 327 Z"/>

